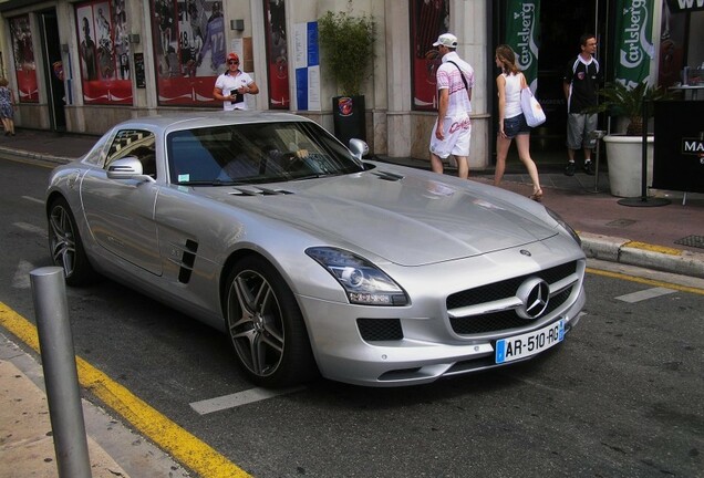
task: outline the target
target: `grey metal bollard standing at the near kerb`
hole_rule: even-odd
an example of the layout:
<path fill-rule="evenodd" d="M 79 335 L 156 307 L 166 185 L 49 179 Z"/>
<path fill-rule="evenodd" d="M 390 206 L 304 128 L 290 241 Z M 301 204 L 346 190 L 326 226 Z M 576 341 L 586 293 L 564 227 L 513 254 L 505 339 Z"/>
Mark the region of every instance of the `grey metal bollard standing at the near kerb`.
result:
<path fill-rule="evenodd" d="M 91 478 L 63 269 L 30 272 L 60 478 Z"/>

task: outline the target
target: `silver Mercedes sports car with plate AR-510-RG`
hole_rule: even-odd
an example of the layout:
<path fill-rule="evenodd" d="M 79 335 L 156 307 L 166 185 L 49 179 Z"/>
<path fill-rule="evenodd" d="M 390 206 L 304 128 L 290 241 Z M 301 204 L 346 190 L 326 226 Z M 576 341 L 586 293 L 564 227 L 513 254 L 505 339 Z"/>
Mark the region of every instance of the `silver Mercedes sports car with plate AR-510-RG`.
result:
<path fill-rule="evenodd" d="M 46 191 L 70 285 L 106 276 L 229 336 L 260 386 L 395 386 L 527 360 L 584 304 L 584 254 L 541 205 L 365 160 L 282 113 L 116 125 Z"/>

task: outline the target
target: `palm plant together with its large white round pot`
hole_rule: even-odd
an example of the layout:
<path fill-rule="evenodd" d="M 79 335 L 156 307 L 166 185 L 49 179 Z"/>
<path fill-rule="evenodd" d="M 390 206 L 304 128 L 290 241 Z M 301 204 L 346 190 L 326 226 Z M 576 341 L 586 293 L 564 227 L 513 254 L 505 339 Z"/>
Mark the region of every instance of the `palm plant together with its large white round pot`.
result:
<path fill-rule="evenodd" d="M 628 119 L 625 134 L 604 136 L 609 184 L 611 194 L 619 197 L 641 195 L 643 169 L 643 129 L 653 115 L 653 102 L 669 100 L 672 94 L 646 82 L 627 86 L 620 82 L 608 83 L 599 91 L 603 100 L 592 112 L 608 112 L 612 116 Z M 646 137 L 648 186 L 653 183 L 653 137 Z"/>

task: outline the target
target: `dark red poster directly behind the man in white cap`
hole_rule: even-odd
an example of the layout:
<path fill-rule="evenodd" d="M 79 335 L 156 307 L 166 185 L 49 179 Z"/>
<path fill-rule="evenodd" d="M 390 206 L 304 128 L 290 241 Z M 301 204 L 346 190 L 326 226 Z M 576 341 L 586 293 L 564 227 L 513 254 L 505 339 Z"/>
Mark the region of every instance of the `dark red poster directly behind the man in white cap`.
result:
<path fill-rule="evenodd" d="M 413 0 L 411 6 L 413 108 L 433 111 L 437 108 L 435 72 L 442 63 L 433 43 L 437 37 L 447 33 L 449 1 Z"/>

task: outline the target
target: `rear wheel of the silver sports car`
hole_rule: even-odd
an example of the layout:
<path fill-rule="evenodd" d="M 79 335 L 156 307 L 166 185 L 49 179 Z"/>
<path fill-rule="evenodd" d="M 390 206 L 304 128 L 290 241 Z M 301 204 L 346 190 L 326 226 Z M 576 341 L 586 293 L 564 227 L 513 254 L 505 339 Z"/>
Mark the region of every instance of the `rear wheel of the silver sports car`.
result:
<path fill-rule="evenodd" d="M 64 198 L 52 201 L 49 208 L 49 252 L 54 266 L 63 269 L 69 285 L 85 285 L 95 272 L 85 256 L 79 227 Z"/>

